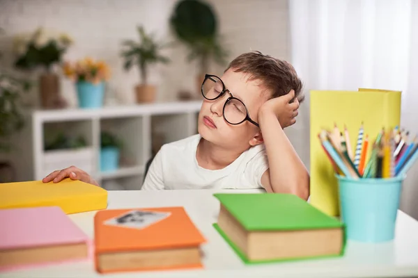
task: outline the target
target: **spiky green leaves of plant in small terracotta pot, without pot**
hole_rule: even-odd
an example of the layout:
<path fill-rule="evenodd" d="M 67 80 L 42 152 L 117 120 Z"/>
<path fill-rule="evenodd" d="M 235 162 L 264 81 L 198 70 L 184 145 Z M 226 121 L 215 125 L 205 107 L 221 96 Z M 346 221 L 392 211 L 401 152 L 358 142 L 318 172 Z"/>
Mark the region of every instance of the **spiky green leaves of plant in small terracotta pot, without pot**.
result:
<path fill-rule="evenodd" d="M 169 47 L 171 43 L 157 42 L 155 34 L 146 33 L 143 26 L 137 27 L 139 33 L 139 42 L 134 40 L 125 40 L 123 44 L 122 57 L 125 59 L 123 67 L 130 70 L 132 65 L 137 65 L 141 72 L 141 81 L 148 82 L 148 65 L 154 63 L 170 62 L 169 58 L 162 56 L 160 51 Z"/>

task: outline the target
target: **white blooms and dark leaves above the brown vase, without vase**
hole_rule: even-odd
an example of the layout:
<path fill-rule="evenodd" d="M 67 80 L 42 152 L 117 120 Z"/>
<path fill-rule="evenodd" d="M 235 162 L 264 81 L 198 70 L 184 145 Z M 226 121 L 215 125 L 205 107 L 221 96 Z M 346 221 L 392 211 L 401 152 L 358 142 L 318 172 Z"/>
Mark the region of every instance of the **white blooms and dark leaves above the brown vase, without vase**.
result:
<path fill-rule="evenodd" d="M 38 28 L 35 32 L 18 35 L 15 38 L 17 59 L 15 66 L 22 70 L 33 70 L 44 67 L 48 72 L 72 44 L 72 39 L 65 33 L 47 31 Z"/>

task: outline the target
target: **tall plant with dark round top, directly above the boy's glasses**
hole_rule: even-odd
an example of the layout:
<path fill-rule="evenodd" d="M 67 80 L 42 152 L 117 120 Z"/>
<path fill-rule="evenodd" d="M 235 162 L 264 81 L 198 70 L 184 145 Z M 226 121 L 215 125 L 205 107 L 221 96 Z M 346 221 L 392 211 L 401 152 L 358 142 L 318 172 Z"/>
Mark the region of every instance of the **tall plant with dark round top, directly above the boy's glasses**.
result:
<path fill-rule="evenodd" d="M 209 72 L 210 60 L 219 65 L 226 63 L 228 51 L 222 46 L 217 17 L 211 6 L 199 0 L 178 1 L 170 19 L 171 28 L 178 40 L 189 48 L 187 60 L 198 60 L 197 88 Z"/>

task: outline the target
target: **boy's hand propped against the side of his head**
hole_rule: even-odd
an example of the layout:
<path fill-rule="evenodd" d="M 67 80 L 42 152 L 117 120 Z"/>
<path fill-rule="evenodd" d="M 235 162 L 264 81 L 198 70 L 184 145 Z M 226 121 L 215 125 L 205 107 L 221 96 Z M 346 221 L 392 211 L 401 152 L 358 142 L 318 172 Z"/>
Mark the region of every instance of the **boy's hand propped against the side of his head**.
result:
<path fill-rule="evenodd" d="M 291 100 L 295 97 L 295 91 L 291 90 L 287 95 L 281 97 L 275 97 L 274 99 L 269 99 L 261 106 L 258 114 L 260 113 L 274 113 L 281 128 L 291 126 L 295 124 L 295 117 L 298 114 L 299 101 L 297 98 L 291 103 Z M 260 115 L 259 115 L 260 116 Z"/>

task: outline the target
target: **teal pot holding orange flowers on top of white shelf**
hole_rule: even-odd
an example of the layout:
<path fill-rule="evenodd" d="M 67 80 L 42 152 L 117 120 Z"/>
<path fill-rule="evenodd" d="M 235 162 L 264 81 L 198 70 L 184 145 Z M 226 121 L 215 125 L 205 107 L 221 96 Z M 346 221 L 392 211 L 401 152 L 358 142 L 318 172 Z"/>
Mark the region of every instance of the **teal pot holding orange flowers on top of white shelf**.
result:
<path fill-rule="evenodd" d="M 104 83 L 77 82 L 77 97 L 80 108 L 100 108 L 103 106 Z"/>

